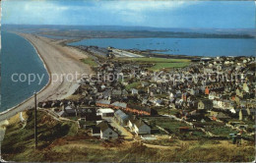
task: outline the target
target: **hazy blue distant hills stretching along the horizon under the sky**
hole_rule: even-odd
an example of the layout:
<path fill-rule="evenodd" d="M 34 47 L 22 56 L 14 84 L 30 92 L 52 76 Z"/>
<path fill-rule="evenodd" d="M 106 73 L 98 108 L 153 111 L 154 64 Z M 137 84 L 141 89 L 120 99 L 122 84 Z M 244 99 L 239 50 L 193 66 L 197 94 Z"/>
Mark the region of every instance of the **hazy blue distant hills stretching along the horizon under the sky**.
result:
<path fill-rule="evenodd" d="M 3 25 L 2 29 L 74 37 L 255 38 L 255 28 L 162 28 L 121 26 Z"/>

